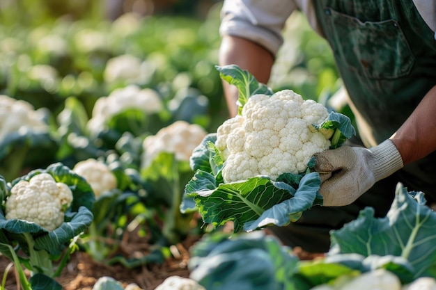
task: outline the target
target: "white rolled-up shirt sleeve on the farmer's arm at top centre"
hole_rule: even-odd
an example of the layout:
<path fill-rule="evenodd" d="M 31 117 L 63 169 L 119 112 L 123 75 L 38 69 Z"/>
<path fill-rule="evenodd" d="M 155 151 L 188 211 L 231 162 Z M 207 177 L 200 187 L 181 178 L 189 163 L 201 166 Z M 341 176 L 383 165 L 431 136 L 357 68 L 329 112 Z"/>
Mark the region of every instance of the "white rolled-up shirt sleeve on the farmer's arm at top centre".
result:
<path fill-rule="evenodd" d="M 219 33 L 251 40 L 275 55 L 283 44 L 281 31 L 295 9 L 292 0 L 224 0 Z"/>

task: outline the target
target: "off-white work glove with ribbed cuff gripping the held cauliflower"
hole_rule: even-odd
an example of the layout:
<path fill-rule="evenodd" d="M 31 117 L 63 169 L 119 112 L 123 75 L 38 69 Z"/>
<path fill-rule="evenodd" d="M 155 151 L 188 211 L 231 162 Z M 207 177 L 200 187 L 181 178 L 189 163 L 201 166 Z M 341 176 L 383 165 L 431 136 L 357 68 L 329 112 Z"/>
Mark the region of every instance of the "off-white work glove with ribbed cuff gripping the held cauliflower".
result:
<path fill-rule="evenodd" d="M 403 168 L 403 159 L 391 140 L 370 149 L 344 145 L 314 155 L 320 172 L 320 194 L 327 207 L 351 204 L 375 182 Z"/>

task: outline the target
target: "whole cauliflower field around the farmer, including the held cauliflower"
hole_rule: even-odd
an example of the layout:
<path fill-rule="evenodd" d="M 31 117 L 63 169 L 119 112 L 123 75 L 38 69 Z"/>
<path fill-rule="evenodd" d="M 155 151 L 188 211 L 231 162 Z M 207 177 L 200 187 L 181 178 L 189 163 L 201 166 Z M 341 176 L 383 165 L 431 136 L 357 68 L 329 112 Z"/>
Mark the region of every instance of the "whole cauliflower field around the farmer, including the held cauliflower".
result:
<path fill-rule="evenodd" d="M 293 16 L 274 92 L 256 82 L 228 118 L 221 2 L 169 2 L 109 19 L 100 1 L 1 1 L 0 290 L 434 287 L 434 213 L 400 186 L 389 218 L 367 209 L 320 259 L 263 234 L 322 204 L 311 156 L 354 133 L 327 106 L 332 55 Z"/>

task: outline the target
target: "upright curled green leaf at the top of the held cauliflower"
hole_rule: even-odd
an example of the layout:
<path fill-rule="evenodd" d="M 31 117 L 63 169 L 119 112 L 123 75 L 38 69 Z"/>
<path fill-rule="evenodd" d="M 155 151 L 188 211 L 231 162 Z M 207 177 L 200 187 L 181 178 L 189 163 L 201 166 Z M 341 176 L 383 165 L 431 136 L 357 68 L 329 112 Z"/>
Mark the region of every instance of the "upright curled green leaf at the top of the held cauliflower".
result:
<path fill-rule="evenodd" d="M 238 88 L 239 114 L 242 107 L 247 103 L 249 97 L 256 94 L 273 95 L 274 92 L 265 84 L 259 83 L 247 70 L 242 70 L 238 65 L 215 66 L 219 71 L 221 79 L 235 85 Z"/>

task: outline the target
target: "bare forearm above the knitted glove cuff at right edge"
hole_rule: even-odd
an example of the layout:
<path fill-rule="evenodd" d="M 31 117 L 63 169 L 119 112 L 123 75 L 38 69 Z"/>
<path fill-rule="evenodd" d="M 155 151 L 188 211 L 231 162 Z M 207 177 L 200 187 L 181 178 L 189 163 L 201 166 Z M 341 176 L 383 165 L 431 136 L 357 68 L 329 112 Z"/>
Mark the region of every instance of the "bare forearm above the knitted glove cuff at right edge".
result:
<path fill-rule="evenodd" d="M 419 160 L 436 150 L 436 86 L 416 107 L 412 115 L 391 137 L 404 165 Z"/>

